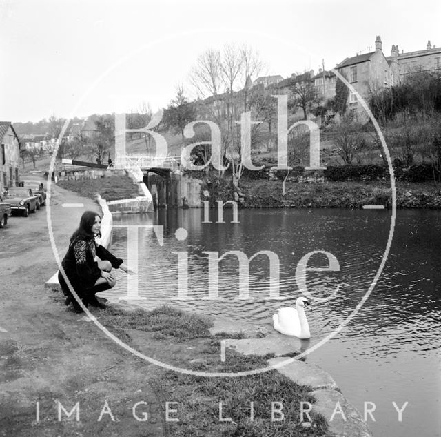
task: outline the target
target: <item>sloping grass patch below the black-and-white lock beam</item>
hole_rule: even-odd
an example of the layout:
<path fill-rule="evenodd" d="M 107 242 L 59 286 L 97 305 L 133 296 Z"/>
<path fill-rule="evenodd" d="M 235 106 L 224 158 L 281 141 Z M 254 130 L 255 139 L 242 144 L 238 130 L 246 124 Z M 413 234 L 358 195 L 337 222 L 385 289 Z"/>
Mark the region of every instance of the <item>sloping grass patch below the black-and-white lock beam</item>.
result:
<path fill-rule="evenodd" d="M 139 196 L 138 186 L 134 185 L 129 176 L 111 176 L 87 181 L 59 181 L 57 185 L 90 199 L 95 199 L 96 193 L 101 194 L 106 201 L 119 201 Z"/>

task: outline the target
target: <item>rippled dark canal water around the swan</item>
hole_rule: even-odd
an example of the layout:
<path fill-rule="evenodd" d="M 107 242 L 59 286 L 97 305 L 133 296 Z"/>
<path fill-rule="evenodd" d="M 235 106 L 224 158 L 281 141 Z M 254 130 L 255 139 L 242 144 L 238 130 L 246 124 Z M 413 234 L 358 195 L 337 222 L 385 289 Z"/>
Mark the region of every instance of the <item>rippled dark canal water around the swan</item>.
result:
<path fill-rule="evenodd" d="M 390 210 L 240 210 L 239 223 L 231 223 L 232 210 L 224 211 L 225 223 L 216 223 L 216 214 L 210 211 L 212 223 L 203 223 L 202 210 L 114 216 L 114 225 L 140 226 L 139 296 L 146 298 L 140 304 L 151 308 L 168 303 L 258 323 L 271 331 L 276 309 L 294 305 L 300 296 L 300 259 L 326 251 L 335 256 L 340 270 L 307 273 L 307 289 L 314 297 L 307 313 L 311 346 L 333 332 L 365 296 L 380 267 L 391 225 Z M 151 225 L 163 226 L 162 238 Z M 181 228 L 187 232 L 176 233 Z M 222 256 L 241 251 L 251 257 L 263 250 L 278 258 L 283 300 L 268 299 L 269 261 L 264 255 L 249 263 L 249 298 L 239 299 L 239 263 L 232 254 L 219 263 L 218 300 L 208 299 L 207 252 Z M 127 259 L 124 227 L 114 228 L 112 252 Z M 365 305 L 339 334 L 306 358 L 334 377 L 358 411 L 363 412 L 365 403 L 370 403 L 369 409 L 375 405 L 375 421 L 368 415 L 367 422 L 376 436 L 441 435 L 440 254 L 441 213 L 398 210 L 389 256 Z M 178 283 L 185 278 L 178 270 L 178 256 L 187 259 L 185 301 L 176 300 Z M 315 254 L 308 267 L 326 269 L 329 260 Z M 117 281 L 112 297 L 127 296 L 127 276 L 119 273 Z M 404 403 L 400 422 L 396 408 Z"/>

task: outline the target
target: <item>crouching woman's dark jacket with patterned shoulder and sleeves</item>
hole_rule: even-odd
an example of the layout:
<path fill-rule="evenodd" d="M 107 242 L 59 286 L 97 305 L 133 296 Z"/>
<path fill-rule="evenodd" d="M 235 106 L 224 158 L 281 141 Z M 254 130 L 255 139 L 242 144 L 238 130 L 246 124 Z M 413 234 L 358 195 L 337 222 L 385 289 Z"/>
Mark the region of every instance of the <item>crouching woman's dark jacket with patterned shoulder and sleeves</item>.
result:
<path fill-rule="evenodd" d="M 95 238 L 76 237 L 69 245 L 68 252 L 65 254 L 61 265 L 66 276 L 68 276 L 75 291 L 93 287 L 101 277 L 101 270 L 95 261 L 95 256 L 101 260 L 112 263 L 114 269 L 119 268 L 123 260 L 113 256 L 101 245 L 96 245 Z"/>

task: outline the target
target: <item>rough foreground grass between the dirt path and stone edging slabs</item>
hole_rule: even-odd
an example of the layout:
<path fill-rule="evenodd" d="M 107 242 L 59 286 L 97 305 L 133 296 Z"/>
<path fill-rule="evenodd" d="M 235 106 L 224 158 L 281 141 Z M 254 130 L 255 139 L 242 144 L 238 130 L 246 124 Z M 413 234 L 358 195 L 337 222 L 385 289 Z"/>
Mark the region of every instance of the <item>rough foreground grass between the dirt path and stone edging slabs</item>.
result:
<path fill-rule="evenodd" d="M 220 361 L 220 338 L 212 336 L 208 318 L 164 305 L 152 312 L 107 308 L 100 321 L 147 356 L 203 372 L 243 372 L 267 366 L 267 358 L 228 351 Z M 175 400 L 179 422 L 173 436 L 327 436 L 327 421 L 311 414 L 310 427 L 300 420 L 300 402 L 314 403 L 311 387 L 296 385 L 276 370 L 240 378 L 207 378 L 163 372 L 158 383 L 167 400 Z M 219 403 L 222 418 L 219 420 Z M 271 402 L 283 404 L 285 419 L 271 420 Z M 251 420 L 253 404 L 254 420 Z M 306 418 L 305 418 L 306 420 Z"/>

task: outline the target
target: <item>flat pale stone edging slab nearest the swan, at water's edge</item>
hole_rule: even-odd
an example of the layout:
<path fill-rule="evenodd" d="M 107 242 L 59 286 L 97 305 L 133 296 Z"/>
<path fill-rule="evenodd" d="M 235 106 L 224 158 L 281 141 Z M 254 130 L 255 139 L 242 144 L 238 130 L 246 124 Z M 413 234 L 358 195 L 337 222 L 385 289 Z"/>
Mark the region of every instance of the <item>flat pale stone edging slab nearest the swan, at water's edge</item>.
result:
<path fill-rule="evenodd" d="M 269 334 L 263 338 L 243 338 L 241 340 L 225 340 L 225 346 L 244 355 L 299 354 L 300 341 L 298 338 Z"/>

